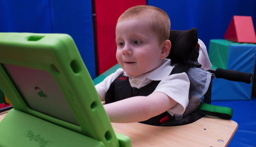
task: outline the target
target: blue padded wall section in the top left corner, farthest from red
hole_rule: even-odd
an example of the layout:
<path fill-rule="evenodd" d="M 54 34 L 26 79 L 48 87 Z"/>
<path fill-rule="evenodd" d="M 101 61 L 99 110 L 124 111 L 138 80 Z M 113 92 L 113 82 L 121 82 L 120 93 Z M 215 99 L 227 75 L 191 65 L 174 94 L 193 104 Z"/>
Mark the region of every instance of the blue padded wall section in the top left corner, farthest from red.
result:
<path fill-rule="evenodd" d="M 48 0 L 1 0 L 0 32 L 51 33 Z"/>

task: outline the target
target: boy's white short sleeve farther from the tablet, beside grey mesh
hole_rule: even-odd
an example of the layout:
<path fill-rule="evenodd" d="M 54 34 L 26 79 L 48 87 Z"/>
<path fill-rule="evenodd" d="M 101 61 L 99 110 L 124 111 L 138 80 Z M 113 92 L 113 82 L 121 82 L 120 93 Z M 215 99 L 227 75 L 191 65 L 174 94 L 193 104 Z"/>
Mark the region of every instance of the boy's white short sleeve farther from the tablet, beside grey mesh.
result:
<path fill-rule="evenodd" d="M 154 92 L 163 92 L 177 102 L 168 110 L 171 115 L 184 113 L 188 105 L 190 81 L 186 73 L 172 74 L 161 80 Z"/>

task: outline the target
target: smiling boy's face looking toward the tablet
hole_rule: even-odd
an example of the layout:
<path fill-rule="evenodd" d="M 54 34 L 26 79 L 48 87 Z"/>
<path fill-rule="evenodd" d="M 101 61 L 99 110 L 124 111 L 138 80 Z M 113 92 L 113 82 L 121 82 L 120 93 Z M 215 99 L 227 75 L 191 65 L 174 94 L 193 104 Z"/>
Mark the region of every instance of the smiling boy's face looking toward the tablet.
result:
<path fill-rule="evenodd" d="M 116 59 L 129 76 L 140 76 L 161 64 L 158 35 L 149 24 L 127 19 L 116 24 Z"/>

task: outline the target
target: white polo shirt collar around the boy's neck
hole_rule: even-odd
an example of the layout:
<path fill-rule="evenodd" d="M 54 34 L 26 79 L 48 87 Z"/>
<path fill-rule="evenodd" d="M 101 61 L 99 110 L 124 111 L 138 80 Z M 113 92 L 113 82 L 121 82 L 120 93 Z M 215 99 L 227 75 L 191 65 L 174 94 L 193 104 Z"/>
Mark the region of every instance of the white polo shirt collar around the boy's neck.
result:
<path fill-rule="evenodd" d="M 145 81 L 146 78 L 149 78 L 153 81 L 160 81 L 163 78 L 169 76 L 171 74 L 173 66 L 171 66 L 171 59 L 164 59 L 157 69 L 150 71 L 148 73 L 142 74 L 140 76 L 131 77 L 126 72 L 123 73 L 123 76 L 131 77 L 132 79 L 136 79 L 139 81 Z"/>

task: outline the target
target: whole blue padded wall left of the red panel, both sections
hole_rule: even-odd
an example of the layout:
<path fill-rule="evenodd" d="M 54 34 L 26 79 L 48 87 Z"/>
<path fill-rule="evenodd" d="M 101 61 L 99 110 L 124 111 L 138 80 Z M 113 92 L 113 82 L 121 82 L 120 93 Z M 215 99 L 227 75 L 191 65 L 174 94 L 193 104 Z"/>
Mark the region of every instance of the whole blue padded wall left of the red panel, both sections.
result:
<path fill-rule="evenodd" d="M 69 34 L 96 77 L 91 0 L 0 0 L 0 32 Z"/>

